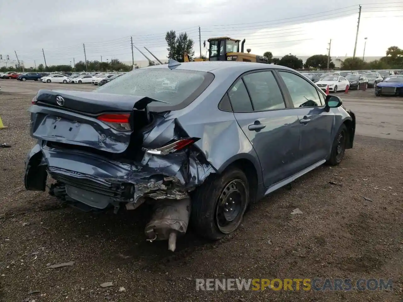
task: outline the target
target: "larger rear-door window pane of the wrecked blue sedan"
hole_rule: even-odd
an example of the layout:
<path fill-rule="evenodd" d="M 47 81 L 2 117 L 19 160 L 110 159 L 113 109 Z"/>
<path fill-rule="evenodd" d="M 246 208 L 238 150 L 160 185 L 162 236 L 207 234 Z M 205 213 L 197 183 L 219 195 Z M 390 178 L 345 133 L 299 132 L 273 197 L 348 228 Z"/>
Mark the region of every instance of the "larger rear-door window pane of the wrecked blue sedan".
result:
<path fill-rule="evenodd" d="M 271 71 L 249 73 L 243 77 L 254 111 L 285 108 L 283 94 Z"/>

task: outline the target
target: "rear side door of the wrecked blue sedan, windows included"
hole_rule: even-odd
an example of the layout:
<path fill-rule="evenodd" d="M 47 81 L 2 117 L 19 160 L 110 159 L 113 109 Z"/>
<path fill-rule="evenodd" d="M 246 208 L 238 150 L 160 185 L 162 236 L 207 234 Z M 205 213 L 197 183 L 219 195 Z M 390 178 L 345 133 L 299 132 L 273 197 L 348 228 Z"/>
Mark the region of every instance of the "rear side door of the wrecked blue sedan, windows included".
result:
<path fill-rule="evenodd" d="M 269 187 L 296 173 L 299 153 L 297 112 L 286 102 L 270 70 L 243 75 L 228 91 L 235 118 L 255 149 Z"/>

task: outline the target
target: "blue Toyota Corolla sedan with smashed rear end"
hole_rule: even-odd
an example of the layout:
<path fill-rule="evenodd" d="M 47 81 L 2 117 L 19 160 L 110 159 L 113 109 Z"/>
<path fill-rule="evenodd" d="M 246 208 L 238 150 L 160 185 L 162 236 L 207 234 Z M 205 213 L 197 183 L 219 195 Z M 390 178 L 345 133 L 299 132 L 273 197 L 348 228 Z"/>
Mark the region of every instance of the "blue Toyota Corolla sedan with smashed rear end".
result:
<path fill-rule="evenodd" d="M 295 70 L 170 60 L 93 92 L 41 89 L 32 100 L 27 190 L 83 210 L 152 203 L 148 240 L 193 225 L 217 240 L 248 204 L 353 147 L 355 115 Z"/>

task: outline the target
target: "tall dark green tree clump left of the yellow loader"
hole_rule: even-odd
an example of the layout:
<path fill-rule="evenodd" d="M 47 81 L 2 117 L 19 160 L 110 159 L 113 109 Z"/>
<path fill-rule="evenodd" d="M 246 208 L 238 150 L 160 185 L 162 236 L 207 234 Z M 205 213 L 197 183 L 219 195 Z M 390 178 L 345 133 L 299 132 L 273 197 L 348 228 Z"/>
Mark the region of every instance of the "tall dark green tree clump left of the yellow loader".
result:
<path fill-rule="evenodd" d="M 187 54 L 191 57 L 195 54 L 193 50 L 194 42 L 190 39 L 186 32 L 180 33 L 176 36 L 175 31 L 167 31 L 165 35 L 166 43 L 168 44 L 168 58 L 183 62 L 183 54 Z"/>

